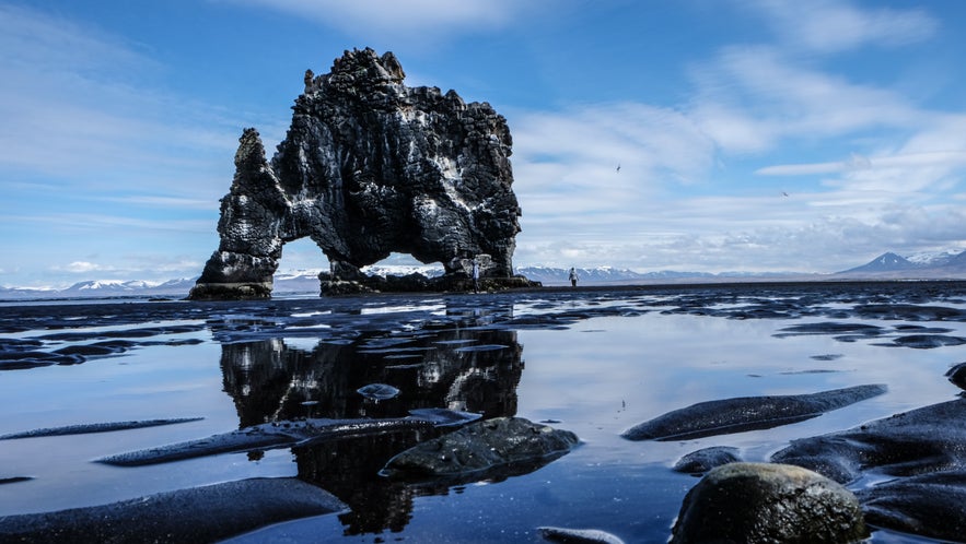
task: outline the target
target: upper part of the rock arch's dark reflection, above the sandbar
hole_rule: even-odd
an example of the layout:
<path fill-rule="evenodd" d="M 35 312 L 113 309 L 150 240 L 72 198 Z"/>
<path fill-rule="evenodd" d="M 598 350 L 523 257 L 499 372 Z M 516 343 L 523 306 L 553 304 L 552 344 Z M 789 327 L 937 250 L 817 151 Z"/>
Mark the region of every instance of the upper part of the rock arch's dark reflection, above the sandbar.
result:
<path fill-rule="evenodd" d="M 310 413 L 394 417 L 418 407 L 451 407 L 484 417 L 515 414 L 523 370 L 515 331 L 439 331 L 389 345 L 393 340 L 363 336 L 349 345 L 323 341 L 312 352 L 290 348 L 281 339 L 223 344 L 225 391 L 243 427 Z M 377 382 L 401 393 L 376 403 L 356 391 Z"/>

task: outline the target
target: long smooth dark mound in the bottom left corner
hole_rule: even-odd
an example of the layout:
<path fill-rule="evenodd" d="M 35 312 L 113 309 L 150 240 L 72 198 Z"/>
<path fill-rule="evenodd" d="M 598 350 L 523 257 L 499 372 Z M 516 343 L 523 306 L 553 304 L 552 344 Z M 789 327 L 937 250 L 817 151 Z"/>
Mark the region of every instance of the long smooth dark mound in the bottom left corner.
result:
<path fill-rule="evenodd" d="M 270 523 L 346 510 L 294 478 L 254 478 L 90 508 L 0 518 L 0 541 L 216 542 Z"/>

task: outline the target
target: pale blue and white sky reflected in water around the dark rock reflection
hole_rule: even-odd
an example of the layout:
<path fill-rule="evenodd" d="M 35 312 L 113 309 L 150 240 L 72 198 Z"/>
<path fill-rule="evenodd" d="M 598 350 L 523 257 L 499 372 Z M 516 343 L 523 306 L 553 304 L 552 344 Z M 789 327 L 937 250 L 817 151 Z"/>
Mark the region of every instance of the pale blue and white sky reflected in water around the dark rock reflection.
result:
<path fill-rule="evenodd" d="M 457 309 L 474 314 L 472 298 Z M 497 484 L 461 486 L 445 496 L 420 497 L 404 536 L 411 542 L 525 541 L 543 524 L 594 527 L 628 542 L 661 542 L 677 513 L 680 498 L 696 482 L 675 474 L 670 465 L 680 456 L 707 446 L 737 446 L 749 460 L 764 460 L 789 440 L 853 427 L 899 411 L 952 399 L 958 389 L 943 372 L 963 357 L 962 346 L 931 350 L 885 347 L 899 335 L 901 321 L 848 318 L 850 323 L 875 324 L 881 338 L 836 341 L 830 334 L 776 338 L 790 326 L 831 320 L 726 319 L 686 314 L 663 315 L 678 306 L 672 295 L 540 298 L 514 301 L 513 318 L 538 317 L 547 311 L 632 308 L 632 317 L 595 317 L 565 328 L 524 328 L 516 333 L 525 364 L 517 393 L 517 415 L 558 421 L 555 426 L 578 434 L 582 446 L 539 471 Z M 300 303 L 301 304 L 301 303 Z M 287 350 L 311 352 L 323 344 L 351 344 L 334 335 L 357 327 L 346 308 L 325 309 L 325 301 L 305 300 L 290 314 L 278 339 Z M 340 303 L 346 304 L 346 303 Z M 943 301 L 962 307 L 963 303 Z M 744 300 L 720 301 L 708 309 L 742 308 Z M 846 309 L 853 304 L 830 300 L 824 308 Z M 362 304 L 359 312 L 372 317 L 395 314 L 441 316 L 447 301 L 414 298 L 405 304 Z M 486 311 L 480 310 L 482 317 Z M 258 324 L 265 316 L 240 311 L 214 316 L 223 323 Z M 347 320 L 348 319 L 348 320 Z M 397 318 L 399 319 L 399 318 Z M 313 321 L 316 320 L 316 321 Z M 416 328 L 414 320 L 385 322 L 383 331 Z M 364 321 L 364 320 L 363 320 Z M 484 328 L 486 319 L 480 320 Z M 172 320 L 164 324 L 198 324 Z M 126 329 L 150 327 L 146 322 Z M 966 323 L 915 324 L 953 329 L 966 336 Z M 317 332 L 312 333 L 312 328 Z M 330 332 L 330 329 L 338 331 Z M 108 330 L 104 326 L 71 331 Z M 289 334 L 287 334 L 287 332 Z M 340 332 L 340 333 L 341 333 Z M 465 331 L 470 334 L 470 331 Z M 474 340 L 427 342 L 457 348 Z M 31 338 L 37 331 L 11 338 Z M 35 475 L 30 486 L 0 488 L 0 516 L 83 505 L 104 504 L 162 490 L 251 476 L 294 475 L 288 450 L 269 452 L 258 461 L 244 454 L 216 456 L 172 465 L 137 470 L 89 462 L 106 454 L 149 448 L 237 428 L 238 415 L 224 392 L 218 360 L 221 346 L 208 330 L 177 333 L 164 340 L 200 338 L 205 343 L 181 346 L 140 346 L 120 356 L 91 359 L 75 366 L 51 366 L 0 375 L 0 434 L 36 427 L 89 422 L 205 416 L 201 422 L 89 436 L 51 437 L 0 444 L 0 477 Z M 415 363 L 426 348 L 406 352 L 410 338 L 386 336 L 359 341 L 359 353 L 379 355 L 387 365 Z M 368 342 L 368 343 L 366 343 Z M 834 355 L 830 360 L 815 356 Z M 395 358 L 394 358 L 395 357 Z M 405 359 L 404 359 L 405 357 Z M 405 365 L 404 365 L 405 366 Z M 400 366 L 399 368 L 403 368 Z M 632 442 L 622 430 L 667 411 L 696 402 L 731 397 L 811 393 L 863 383 L 885 383 L 889 392 L 819 417 L 767 430 L 671 442 Z M 69 492 L 69 493 L 66 493 Z M 8 493 L 15 492 L 15 493 Z M 305 531 L 340 535 L 335 517 L 290 524 L 293 534 Z M 371 541 L 372 535 L 360 540 Z M 346 537 L 346 540 L 351 540 Z M 388 537 L 386 539 L 388 540 Z M 884 539 L 882 539 L 885 541 Z M 254 541 L 253 541 L 254 542 Z"/>

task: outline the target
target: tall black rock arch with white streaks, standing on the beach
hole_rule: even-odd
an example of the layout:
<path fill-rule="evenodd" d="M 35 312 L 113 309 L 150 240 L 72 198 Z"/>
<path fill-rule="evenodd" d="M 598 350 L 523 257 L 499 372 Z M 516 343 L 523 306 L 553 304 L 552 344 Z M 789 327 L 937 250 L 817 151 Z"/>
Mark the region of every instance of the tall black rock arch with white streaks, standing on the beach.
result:
<path fill-rule="evenodd" d="M 306 71 L 270 161 L 245 129 L 191 298 L 270 296 L 283 246 L 306 236 L 329 260 L 323 281 L 364 280 L 359 269 L 391 252 L 441 262 L 451 280 L 474 258 L 482 279 L 511 279 L 521 210 L 507 120 L 404 78 L 392 52 L 346 51 L 330 73 Z"/>

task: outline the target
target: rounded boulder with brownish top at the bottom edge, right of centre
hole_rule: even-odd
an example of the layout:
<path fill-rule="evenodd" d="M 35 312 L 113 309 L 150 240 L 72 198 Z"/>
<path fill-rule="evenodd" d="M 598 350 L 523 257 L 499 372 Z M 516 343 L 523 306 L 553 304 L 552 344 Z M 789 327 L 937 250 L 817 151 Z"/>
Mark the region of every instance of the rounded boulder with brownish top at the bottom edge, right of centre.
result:
<path fill-rule="evenodd" d="M 857 542 L 868 536 L 859 500 L 799 466 L 732 463 L 688 492 L 671 542 Z"/>

